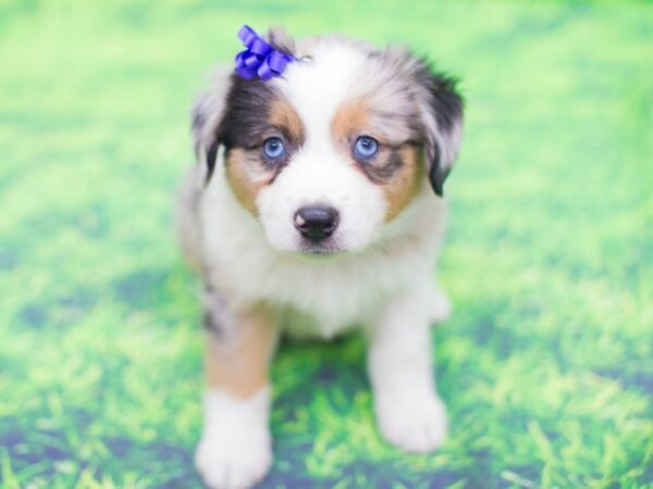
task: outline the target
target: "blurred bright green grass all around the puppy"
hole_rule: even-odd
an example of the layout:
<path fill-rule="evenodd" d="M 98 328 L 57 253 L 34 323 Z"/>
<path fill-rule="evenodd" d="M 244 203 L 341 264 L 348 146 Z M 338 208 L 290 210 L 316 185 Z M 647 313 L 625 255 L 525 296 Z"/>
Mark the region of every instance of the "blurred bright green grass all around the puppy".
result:
<path fill-rule="evenodd" d="M 468 106 L 449 440 L 380 439 L 360 339 L 285 344 L 264 487 L 653 487 L 653 4 L 389 0 L 0 0 L 0 487 L 200 487 L 171 202 L 243 23 L 410 45 Z"/>

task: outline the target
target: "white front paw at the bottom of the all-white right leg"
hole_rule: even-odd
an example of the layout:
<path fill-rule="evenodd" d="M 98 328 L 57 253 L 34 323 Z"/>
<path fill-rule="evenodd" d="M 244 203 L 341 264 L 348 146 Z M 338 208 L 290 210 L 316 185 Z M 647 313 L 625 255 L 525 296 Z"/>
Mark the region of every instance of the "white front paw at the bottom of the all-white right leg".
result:
<path fill-rule="evenodd" d="M 433 392 L 385 391 L 377 394 L 374 408 L 383 437 L 404 451 L 431 452 L 446 438 L 446 410 Z"/>

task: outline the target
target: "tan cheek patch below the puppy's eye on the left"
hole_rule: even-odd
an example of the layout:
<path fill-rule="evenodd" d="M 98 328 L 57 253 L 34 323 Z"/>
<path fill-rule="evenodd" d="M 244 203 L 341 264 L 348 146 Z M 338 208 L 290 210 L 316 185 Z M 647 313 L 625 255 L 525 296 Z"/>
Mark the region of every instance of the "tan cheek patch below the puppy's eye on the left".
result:
<path fill-rule="evenodd" d="M 238 148 L 229 152 L 226 179 L 241 205 L 256 215 L 256 198 L 267 185 L 268 175 L 257 167 L 256 162 L 247 159 L 245 150 Z"/>

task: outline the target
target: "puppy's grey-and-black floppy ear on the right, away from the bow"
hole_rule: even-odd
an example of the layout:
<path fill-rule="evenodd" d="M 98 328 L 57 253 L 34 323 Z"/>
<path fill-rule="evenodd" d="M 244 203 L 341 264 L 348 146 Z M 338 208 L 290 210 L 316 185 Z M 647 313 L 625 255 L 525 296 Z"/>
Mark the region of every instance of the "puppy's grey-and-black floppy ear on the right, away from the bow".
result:
<path fill-rule="evenodd" d="M 440 197 L 444 180 L 458 155 L 463 136 L 463 99 L 456 82 L 430 71 L 426 64 L 417 73 L 421 88 L 421 118 L 426 159 L 431 187 Z"/>

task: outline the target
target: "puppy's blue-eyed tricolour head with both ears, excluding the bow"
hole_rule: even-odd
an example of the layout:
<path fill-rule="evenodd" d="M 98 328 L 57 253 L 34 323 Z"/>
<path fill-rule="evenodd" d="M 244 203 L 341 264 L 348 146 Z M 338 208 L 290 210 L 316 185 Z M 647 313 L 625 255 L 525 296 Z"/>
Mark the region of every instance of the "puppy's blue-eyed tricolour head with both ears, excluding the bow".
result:
<path fill-rule="evenodd" d="M 427 179 L 442 197 L 461 131 L 452 79 L 403 49 L 270 41 L 300 61 L 269 80 L 232 75 L 226 93 L 196 104 L 194 136 L 207 181 L 224 171 L 274 248 L 361 250 Z"/>

